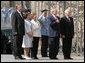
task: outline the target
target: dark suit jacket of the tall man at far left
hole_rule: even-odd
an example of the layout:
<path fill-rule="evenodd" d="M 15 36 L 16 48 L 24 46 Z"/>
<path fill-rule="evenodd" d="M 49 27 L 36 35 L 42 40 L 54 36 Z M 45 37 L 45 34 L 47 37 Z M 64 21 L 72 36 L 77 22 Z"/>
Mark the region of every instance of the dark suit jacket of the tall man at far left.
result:
<path fill-rule="evenodd" d="M 25 34 L 24 18 L 17 11 L 12 14 L 12 32 L 17 32 L 17 35 Z"/>

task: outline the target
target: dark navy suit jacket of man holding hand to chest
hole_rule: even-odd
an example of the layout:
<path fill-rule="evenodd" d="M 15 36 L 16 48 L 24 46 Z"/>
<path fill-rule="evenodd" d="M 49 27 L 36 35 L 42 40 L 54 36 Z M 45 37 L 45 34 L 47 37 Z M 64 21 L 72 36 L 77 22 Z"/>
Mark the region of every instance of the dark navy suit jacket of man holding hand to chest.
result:
<path fill-rule="evenodd" d="M 60 18 L 57 16 L 58 20 Z M 49 22 L 49 37 L 56 37 L 60 35 L 60 24 L 56 22 L 55 18 L 51 15 L 48 17 Z"/>

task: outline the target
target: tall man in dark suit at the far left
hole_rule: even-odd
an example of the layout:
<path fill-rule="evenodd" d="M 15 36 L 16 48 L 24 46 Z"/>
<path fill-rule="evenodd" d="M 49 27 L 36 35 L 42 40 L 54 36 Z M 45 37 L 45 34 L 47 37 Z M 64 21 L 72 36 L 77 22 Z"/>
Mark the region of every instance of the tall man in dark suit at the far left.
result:
<path fill-rule="evenodd" d="M 22 16 L 22 5 L 17 5 L 17 11 L 12 14 L 12 39 L 13 39 L 13 54 L 15 59 L 23 59 L 22 40 L 25 34 L 24 18 Z"/>

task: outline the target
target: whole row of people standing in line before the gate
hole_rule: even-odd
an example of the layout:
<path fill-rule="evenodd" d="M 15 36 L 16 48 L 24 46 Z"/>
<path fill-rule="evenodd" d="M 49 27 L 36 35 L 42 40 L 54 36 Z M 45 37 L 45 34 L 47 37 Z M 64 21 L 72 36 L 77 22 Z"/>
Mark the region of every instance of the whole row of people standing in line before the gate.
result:
<path fill-rule="evenodd" d="M 71 45 L 74 36 L 73 18 L 70 9 L 65 10 L 65 16 L 57 16 L 57 9 L 42 10 L 42 15 L 37 17 L 31 9 L 22 10 L 22 5 L 17 5 L 17 10 L 12 13 L 12 40 L 13 55 L 15 59 L 39 59 L 38 44 L 41 40 L 41 55 L 50 59 L 57 59 L 59 40 L 62 38 L 64 59 L 71 58 Z M 47 49 L 49 48 L 49 54 Z M 24 57 L 22 50 L 24 49 Z"/>

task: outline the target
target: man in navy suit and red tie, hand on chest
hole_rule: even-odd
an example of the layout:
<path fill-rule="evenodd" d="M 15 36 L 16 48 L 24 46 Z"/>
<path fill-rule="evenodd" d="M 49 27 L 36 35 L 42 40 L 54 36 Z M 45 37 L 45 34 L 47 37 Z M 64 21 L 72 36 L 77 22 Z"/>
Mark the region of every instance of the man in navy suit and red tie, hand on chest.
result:
<path fill-rule="evenodd" d="M 58 59 L 56 56 L 59 49 L 60 38 L 60 18 L 57 15 L 57 10 L 52 9 L 52 15 L 48 17 L 49 24 L 49 57 L 50 59 Z"/>

